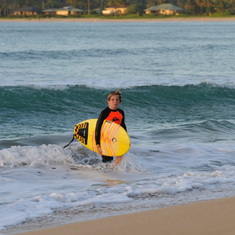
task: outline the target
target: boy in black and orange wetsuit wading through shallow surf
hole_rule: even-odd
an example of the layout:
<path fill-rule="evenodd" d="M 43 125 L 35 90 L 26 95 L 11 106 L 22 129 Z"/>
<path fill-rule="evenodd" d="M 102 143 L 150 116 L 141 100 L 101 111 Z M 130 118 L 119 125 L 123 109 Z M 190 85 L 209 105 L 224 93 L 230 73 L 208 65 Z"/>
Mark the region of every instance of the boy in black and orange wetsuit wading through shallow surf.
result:
<path fill-rule="evenodd" d="M 125 124 L 124 111 L 118 108 L 119 104 L 122 102 L 122 93 L 119 90 L 110 92 L 107 97 L 107 102 L 108 102 L 108 107 L 105 108 L 100 113 L 95 130 L 95 140 L 96 140 L 97 150 L 99 154 L 102 156 L 102 161 L 104 163 L 112 162 L 113 160 L 113 157 L 102 155 L 102 150 L 100 147 L 100 132 L 104 120 L 115 122 L 121 125 L 125 130 L 127 130 Z M 116 157 L 115 163 L 118 164 L 121 160 L 122 156 Z"/>

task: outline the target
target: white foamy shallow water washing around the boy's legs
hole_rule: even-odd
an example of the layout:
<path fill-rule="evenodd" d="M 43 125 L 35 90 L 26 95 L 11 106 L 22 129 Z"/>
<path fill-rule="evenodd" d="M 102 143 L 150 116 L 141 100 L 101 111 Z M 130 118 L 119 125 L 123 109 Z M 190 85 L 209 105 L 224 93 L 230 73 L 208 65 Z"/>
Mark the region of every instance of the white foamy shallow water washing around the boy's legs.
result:
<path fill-rule="evenodd" d="M 72 155 L 76 149 L 78 153 Z M 133 147 L 115 167 L 103 164 L 97 155 L 84 155 L 77 145 L 68 150 L 56 145 L 4 149 L 0 151 L 0 228 L 61 208 L 86 210 L 92 204 L 112 208 L 152 198 L 162 203 L 162 198 L 171 197 L 176 202 L 189 200 L 198 191 L 204 198 L 204 191 L 218 188 L 220 196 L 226 196 L 235 188 L 234 153 L 229 143 L 169 144 L 158 146 L 158 151 Z M 96 163 L 86 165 L 82 156 L 97 158 Z M 165 200 L 165 205 L 170 204 Z"/>

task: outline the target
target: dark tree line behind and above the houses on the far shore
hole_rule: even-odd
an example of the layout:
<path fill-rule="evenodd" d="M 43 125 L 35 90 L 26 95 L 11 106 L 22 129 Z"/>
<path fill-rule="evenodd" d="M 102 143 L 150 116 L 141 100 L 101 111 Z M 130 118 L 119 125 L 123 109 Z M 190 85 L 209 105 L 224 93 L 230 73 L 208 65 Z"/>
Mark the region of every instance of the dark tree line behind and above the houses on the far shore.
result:
<path fill-rule="evenodd" d="M 235 0 L 0 0 L 0 16 L 7 16 L 21 7 L 49 9 L 64 6 L 79 8 L 88 14 L 95 13 L 97 8 L 125 6 L 128 14 L 142 15 L 146 8 L 162 3 L 171 3 L 194 15 L 235 12 Z"/>

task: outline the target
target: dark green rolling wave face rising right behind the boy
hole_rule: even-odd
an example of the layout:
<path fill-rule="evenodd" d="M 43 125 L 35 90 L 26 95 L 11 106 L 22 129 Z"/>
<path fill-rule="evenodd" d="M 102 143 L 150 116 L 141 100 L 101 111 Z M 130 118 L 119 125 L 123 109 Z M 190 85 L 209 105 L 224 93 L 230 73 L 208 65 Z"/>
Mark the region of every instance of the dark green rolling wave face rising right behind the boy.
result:
<path fill-rule="evenodd" d="M 153 115 L 159 112 L 169 112 L 169 115 L 175 112 L 188 113 L 189 110 L 195 116 L 202 115 L 202 111 L 210 113 L 215 110 L 216 115 L 219 115 L 219 107 L 221 115 L 225 109 L 228 115 L 235 105 L 235 88 L 207 83 L 186 86 L 136 86 L 121 91 L 124 109 L 130 111 L 141 109 L 143 112 L 150 109 L 154 112 Z M 82 116 L 89 116 L 93 111 L 94 114 L 99 112 L 106 105 L 109 92 L 110 89 L 78 85 L 0 87 L 0 115 L 11 116 L 9 114 L 12 113 L 16 116 L 25 113 L 74 115 L 76 112 Z"/>

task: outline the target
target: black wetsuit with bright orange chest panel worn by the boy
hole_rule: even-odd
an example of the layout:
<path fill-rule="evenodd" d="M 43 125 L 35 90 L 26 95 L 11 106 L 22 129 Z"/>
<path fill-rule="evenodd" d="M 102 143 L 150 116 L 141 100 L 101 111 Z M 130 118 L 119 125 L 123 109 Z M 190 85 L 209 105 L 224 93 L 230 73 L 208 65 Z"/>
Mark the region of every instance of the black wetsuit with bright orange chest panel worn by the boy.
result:
<path fill-rule="evenodd" d="M 124 111 L 119 108 L 116 110 L 112 110 L 109 107 L 107 107 L 100 113 L 100 116 L 96 124 L 96 130 L 95 130 L 96 144 L 100 144 L 100 132 L 101 132 L 101 127 L 103 125 L 104 120 L 115 122 L 121 125 L 125 130 L 127 130 L 126 124 L 125 124 Z M 113 160 L 113 157 L 102 155 L 103 162 L 111 162 L 112 160 Z"/>

